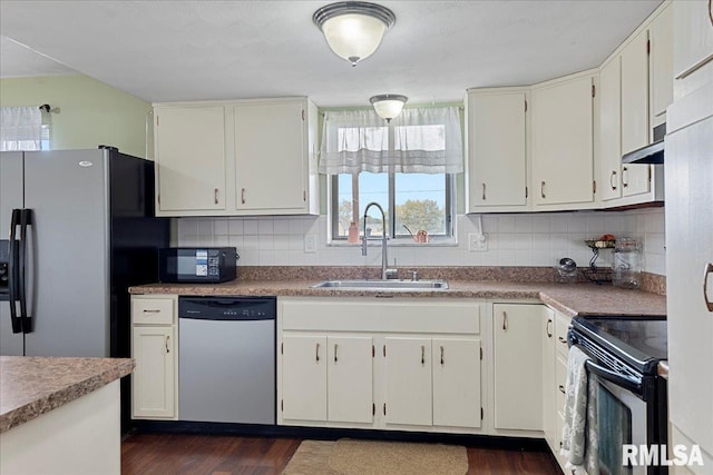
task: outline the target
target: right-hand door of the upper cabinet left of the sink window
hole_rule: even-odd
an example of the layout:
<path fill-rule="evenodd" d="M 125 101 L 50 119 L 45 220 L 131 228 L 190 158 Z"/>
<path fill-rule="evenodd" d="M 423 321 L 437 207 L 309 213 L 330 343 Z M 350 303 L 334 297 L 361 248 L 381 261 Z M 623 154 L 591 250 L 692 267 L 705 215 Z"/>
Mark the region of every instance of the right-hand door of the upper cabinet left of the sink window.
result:
<path fill-rule="evenodd" d="M 235 117 L 238 210 L 306 210 L 303 101 L 241 105 Z"/>

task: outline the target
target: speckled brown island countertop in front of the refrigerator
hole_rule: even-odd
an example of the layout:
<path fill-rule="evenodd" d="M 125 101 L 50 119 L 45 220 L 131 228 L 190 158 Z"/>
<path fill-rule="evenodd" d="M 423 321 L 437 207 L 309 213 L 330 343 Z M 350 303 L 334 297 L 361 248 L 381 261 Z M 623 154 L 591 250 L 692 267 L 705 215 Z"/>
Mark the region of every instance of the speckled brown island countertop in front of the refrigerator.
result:
<path fill-rule="evenodd" d="M 134 370 L 129 358 L 0 356 L 0 433 Z"/>

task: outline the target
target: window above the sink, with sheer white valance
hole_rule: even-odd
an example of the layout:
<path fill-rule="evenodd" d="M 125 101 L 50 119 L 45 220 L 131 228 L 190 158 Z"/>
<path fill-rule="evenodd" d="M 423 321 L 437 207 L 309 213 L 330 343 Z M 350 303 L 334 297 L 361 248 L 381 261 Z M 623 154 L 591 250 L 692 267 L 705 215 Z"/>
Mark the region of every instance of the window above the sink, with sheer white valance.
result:
<path fill-rule="evenodd" d="M 332 239 L 363 235 L 370 202 L 387 218 L 370 210 L 370 236 L 452 236 L 453 174 L 462 171 L 458 108 L 404 109 L 388 125 L 373 110 L 326 112 L 321 154 L 320 171 L 331 176 Z"/>

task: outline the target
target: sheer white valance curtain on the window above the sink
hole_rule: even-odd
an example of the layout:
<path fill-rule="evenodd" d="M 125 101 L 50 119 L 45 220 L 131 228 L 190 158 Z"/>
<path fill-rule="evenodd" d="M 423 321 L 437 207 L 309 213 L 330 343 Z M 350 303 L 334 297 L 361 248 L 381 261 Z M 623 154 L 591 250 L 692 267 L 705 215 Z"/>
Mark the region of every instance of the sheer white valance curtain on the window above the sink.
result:
<path fill-rule="evenodd" d="M 388 125 L 372 110 L 324 115 L 320 172 L 458 174 L 463 171 L 459 109 L 403 109 Z"/>

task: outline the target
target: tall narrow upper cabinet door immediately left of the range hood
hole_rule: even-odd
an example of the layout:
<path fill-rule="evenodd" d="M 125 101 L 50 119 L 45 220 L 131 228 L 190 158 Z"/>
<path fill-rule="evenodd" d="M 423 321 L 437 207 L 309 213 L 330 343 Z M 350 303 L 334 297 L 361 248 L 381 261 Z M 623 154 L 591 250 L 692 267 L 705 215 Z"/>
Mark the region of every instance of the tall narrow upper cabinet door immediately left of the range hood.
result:
<path fill-rule="evenodd" d="M 622 58 L 599 72 L 599 190 L 603 200 L 622 196 Z"/>

